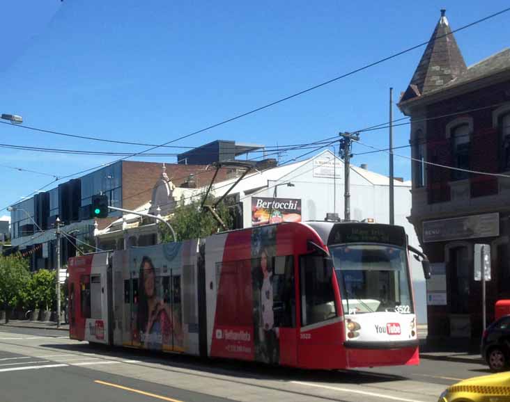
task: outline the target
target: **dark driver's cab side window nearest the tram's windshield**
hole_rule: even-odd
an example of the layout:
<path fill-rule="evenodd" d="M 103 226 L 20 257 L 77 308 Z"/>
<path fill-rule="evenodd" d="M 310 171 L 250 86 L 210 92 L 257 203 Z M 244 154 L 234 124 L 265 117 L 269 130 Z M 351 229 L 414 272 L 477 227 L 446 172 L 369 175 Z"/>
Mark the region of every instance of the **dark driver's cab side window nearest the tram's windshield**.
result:
<path fill-rule="evenodd" d="M 337 316 L 332 285 L 332 266 L 322 256 L 301 257 L 302 325 L 311 325 Z"/>

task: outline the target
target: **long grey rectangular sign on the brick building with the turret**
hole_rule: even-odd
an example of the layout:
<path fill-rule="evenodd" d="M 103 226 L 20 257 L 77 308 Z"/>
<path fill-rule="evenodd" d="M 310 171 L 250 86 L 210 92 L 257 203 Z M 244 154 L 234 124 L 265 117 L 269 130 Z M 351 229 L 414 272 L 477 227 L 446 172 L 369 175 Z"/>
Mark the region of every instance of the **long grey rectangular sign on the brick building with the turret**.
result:
<path fill-rule="evenodd" d="M 477 239 L 500 235 L 500 214 L 461 216 L 459 218 L 427 220 L 423 223 L 423 241 Z"/>

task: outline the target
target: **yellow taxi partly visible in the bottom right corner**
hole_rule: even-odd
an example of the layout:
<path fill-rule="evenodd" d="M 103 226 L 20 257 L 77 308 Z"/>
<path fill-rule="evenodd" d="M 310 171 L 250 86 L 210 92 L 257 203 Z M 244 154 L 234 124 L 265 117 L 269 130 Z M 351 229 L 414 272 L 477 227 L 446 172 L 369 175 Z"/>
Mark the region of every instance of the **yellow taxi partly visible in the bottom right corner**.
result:
<path fill-rule="evenodd" d="M 438 402 L 510 402 L 510 372 L 490 374 L 451 385 Z"/>

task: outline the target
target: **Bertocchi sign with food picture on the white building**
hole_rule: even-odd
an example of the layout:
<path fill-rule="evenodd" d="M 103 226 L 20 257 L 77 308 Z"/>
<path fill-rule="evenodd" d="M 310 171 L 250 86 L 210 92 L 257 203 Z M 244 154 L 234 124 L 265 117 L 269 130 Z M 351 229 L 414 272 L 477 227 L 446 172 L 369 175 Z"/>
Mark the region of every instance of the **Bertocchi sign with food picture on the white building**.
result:
<path fill-rule="evenodd" d="M 252 226 L 280 222 L 301 222 L 300 199 L 252 197 Z"/>

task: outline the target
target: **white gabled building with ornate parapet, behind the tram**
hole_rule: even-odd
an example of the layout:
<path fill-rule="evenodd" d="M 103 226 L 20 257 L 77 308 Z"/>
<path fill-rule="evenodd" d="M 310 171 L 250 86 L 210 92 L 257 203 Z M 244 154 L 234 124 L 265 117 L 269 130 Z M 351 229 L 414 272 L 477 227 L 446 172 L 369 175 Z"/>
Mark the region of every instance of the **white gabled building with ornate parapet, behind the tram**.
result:
<path fill-rule="evenodd" d="M 378 223 L 389 223 L 389 178 L 365 168 L 351 165 L 350 209 L 353 220 L 372 218 Z M 250 172 L 232 191 L 229 198 L 237 206 L 238 227 L 251 227 L 288 220 L 325 220 L 327 214 L 343 217 L 343 161 L 332 152 Z M 237 179 L 217 180 L 212 186 L 216 196 L 222 196 Z M 411 183 L 394 180 L 395 223 L 405 227 L 412 246 L 419 247 L 414 227 L 408 222 L 411 207 Z M 172 207 L 162 215 L 172 214 L 175 200 L 184 196 L 205 193 L 207 186 L 179 188 L 168 177 L 160 177 L 154 184 L 153 202 L 140 205 L 141 211 L 154 211 L 157 205 Z M 159 193 L 158 193 L 159 192 Z M 168 201 L 165 201 L 168 200 Z M 99 244 L 106 248 L 127 248 L 147 245 L 148 236 L 157 236 L 157 226 L 132 214 L 126 214 L 97 232 Z M 102 247 L 103 248 L 103 247 Z M 413 287 L 415 289 L 419 324 L 426 324 L 425 282 L 422 266 L 412 259 Z"/>

